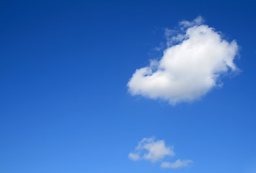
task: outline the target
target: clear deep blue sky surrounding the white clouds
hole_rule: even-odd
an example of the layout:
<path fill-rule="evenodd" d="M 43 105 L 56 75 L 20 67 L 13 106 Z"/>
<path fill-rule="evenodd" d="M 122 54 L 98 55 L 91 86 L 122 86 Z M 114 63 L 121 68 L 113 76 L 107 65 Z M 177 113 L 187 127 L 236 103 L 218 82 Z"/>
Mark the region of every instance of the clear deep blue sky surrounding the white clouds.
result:
<path fill-rule="evenodd" d="M 255 173 L 255 7 L 253 1 L 1 1 L 0 172 Z M 128 82 L 136 69 L 161 59 L 167 28 L 196 17 L 236 41 L 241 71 L 221 74 L 223 86 L 190 102 L 133 96 Z M 136 150 L 144 138 L 164 143 L 162 158 L 128 157 L 147 154 L 145 145 Z M 161 167 L 178 159 L 193 162 Z"/>

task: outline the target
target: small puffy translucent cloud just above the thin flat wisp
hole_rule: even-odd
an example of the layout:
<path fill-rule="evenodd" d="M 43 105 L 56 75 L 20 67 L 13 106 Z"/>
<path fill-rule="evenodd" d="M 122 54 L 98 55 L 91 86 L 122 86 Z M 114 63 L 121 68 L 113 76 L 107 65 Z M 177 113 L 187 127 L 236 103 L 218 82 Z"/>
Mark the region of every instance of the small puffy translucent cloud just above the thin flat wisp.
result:
<path fill-rule="evenodd" d="M 155 141 L 154 138 L 144 138 L 136 147 L 136 151 L 128 155 L 129 159 L 136 161 L 145 159 L 152 162 L 159 161 L 164 156 L 174 156 L 172 146 L 165 146 L 163 140 Z"/>

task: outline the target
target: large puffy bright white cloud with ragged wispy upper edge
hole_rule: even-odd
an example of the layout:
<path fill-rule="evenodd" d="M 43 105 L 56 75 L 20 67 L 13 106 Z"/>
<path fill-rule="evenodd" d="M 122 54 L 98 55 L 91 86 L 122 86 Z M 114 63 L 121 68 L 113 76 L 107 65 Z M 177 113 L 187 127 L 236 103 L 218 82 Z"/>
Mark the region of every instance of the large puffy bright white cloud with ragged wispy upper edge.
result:
<path fill-rule="evenodd" d="M 202 17 L 182 21 L 180 32 L 174 36 L 172 30 L 166 30 L 167 45 L 172 46 L 164 50 L 159 61 L 135 71 L 128 82 L 129 92 L 175 105 L 199 99 L 214 86 L 221 86 L 223 74 L 237 71 L 233 62 L 236 41 L 229 43 L 202 22 Z"/>

